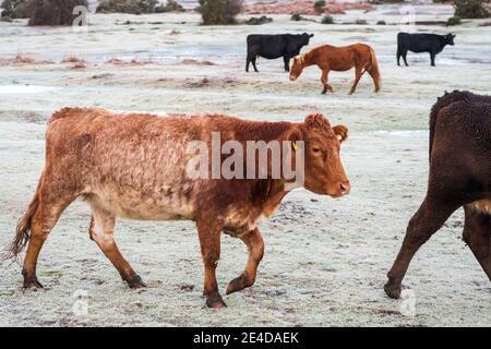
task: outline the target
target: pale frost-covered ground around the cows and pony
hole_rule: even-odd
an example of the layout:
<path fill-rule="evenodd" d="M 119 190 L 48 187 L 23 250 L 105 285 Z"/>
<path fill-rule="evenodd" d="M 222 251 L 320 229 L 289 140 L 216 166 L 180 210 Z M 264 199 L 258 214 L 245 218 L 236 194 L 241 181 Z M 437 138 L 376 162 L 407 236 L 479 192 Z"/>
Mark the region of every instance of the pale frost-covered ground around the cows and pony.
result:
<path fill-rule="evenodd" d="M 417 8 L 417 19 L 446 20 L 451 12 L 450 7 Z M 204 27 L 197 25 L 197 15 L 188 13 L 94 15 L 88 33 L 0 23 L 0 59 L 19 53 L 53 62 L 0 67 L 2 245 L 12 238 L 43 168 L 46 119 L 64 106 L 216 111 L 290 121 L 321 111 L 332 123 L 350 128 L 343 160 L 352 184 L 351 194 L 340 200 L 306 191 L 289 194 L 278 214 L 261 226 L 266 254 L 256 285 L 225 297 L 229 308 L 224 311 L 203 306 L 202 263 L 191 222 L 118 222 L 120 249 L 148 284 L 134 291 L 88 239 L 89 210 L 75 202 L 41 252 L 38 276 L 44 290 L 23 293 L 21 267 L 0 262 L 0 325 L 490 326 L 491 285 L 460 241 L 462 212 L 420 250 L 409 268 L 405 286 L 415 294 L 415 316 L 402 314 L 403 301 L 385 297 L 383 284 L 407 221 L 424 195 L 429 108 L 444 91 L 491 93 L 491 27 L 467 22 L 452 28 L 456 46 L 438 57 L 436 68 L 430 67 L 428 55 L 411 53 L 411 67 L 398 68 L 399 27 L 374 25 L 381 16 L 387 23 L 400 17 L 396 7 L 382 7 L 336 17 L 367 19 L 367 26 L 290 22 L 277 15 L 263 26 Z M 123 25 L 127 20 L 132 24 Z M 348 96 L 351 71 L 332 73 L 336 93 L 322 96 L 316 68 L 292 83 L 282 60 L 261 60 L 259 74 L 243 72 L 248 34 L 306 31 L 315 33 L 311 47 L 372 45 L 382 67 L 382 93 L 374 95 L 364 76 L 358 92 Z M 86 68 L 61 63 L 68 56 L 84 59 Z M 111 58 L 153 63 L 106 64 Z M 182 63 L 189 59 L 214 65 Z M 217 270 L 223 291 L 246 260 L 244 245 L 225 236 Z"/>

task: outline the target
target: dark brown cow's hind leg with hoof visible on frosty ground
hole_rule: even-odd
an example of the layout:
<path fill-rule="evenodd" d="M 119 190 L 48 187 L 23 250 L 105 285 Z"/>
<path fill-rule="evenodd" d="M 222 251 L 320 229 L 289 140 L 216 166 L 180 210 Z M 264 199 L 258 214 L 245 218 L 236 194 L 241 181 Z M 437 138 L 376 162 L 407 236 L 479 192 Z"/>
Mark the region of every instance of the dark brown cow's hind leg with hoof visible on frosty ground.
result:
<path fill-rule="evenodd" d="M 407 227 L 403 246 L 387 274 L 388 281 L 385 284 L 385 293 L 391 298 L 399 298 L 403 278 L 409 267 L 412 256 L 430 237 L 439 230 L 450 215 L 457 207 L 447 207 L 444 204 L 430 203 L 424 198 L 421 207 L 412 216 Z"/>

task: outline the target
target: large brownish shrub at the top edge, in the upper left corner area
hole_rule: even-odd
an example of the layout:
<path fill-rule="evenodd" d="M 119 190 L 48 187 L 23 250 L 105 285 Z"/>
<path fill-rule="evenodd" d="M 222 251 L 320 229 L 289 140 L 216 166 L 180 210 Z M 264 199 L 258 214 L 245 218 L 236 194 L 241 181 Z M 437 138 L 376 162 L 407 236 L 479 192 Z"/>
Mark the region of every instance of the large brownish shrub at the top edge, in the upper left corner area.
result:
<path fill-rule="evenodd" d="M 86 0 L 28 0 L 26 11 L 28 25 L 72 25 L 79 14 L 73 14 L 75 7 L 88 7 Z"/>

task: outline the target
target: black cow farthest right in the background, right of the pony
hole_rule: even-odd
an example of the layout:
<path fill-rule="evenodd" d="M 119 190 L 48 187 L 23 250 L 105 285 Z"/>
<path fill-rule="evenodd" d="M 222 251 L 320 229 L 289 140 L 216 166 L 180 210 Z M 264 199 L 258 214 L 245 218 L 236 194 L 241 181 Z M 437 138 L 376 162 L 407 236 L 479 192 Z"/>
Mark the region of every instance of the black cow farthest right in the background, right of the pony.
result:
<path fill-rule="evenodd" d="M 400 65 L 400 57 L 408 67 L 406 56 L 407 51 L 420 53 L 429 52 L 431 57 L 431 65 L 434 67 L 434 58 L 440 53 L 446 45 L 454 46 L 455 35 L 436 35 L 436 34 L 397 34 L 397 65 Z"/>

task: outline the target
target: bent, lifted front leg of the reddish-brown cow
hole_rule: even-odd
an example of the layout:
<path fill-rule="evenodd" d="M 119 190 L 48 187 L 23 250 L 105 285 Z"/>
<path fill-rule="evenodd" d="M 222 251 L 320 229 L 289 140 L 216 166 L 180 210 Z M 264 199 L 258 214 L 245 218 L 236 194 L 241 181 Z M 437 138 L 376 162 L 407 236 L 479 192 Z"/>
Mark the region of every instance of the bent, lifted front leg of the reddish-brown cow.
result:
<path fill-rule="evenodd" d="M 248 264 L 246 265 L 243 273 L 228 284 L 227 294 L 254 285 L 258 266 L 264 254 L 264 241 L 258 228 L 241 236 L 240 239 L 246 243 L 249 250 Z"/>

